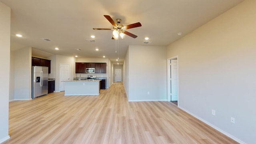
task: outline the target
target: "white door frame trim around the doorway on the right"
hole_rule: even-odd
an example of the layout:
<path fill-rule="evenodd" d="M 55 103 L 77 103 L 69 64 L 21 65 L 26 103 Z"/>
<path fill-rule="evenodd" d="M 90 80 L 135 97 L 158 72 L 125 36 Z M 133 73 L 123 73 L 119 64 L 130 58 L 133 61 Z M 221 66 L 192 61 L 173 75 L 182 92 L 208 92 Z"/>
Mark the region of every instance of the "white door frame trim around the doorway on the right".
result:
<path fill-rule="evenodd" d="M 178 77 L 178 86 L 177 86 L 177 96 L 178 96 L 178 105 L 179 105 L 179 60 L 178 60 L 178 56 L 174 56 L 172 58 L 168 58 L 167 59 L 167 100 L 168 101 L 171 101 L 171 95 L 170 95 L 170 91 L 171 91 L 171 82 L 170 82 L 170 73 L 171 73 L 171 70 L 170 70 L 170 61 L 171 60 L 174 60 L 174 59 L 177 59 L 177 77 Z"/>

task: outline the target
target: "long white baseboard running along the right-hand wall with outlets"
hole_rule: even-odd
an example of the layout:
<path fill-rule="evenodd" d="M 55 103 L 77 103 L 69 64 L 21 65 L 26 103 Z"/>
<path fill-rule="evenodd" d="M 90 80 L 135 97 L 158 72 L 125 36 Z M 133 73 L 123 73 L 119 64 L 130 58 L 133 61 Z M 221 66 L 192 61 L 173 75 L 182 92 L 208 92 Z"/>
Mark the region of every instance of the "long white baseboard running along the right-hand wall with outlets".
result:
<path fill-rule="evenodd" d="M 228 136 L 229 138 L 235 140 L 236 142 L 238 142 L 238 143 L 240 143 L 240 144 L 246 144 L 246 143 L 243 142 L 242 140 L 239 140 L 238 138 L 236 138 L 236 137 L 232 136 L 231 134 L 225 132 L 224 130 L 218 128 L 217 126 L 214 126 L 213 124 L 211 124 L 210 122 L 207 122 L 206 120 L 200 118 L 199 116 L 196 116 L 195 114 L 189 112 L 188 110 L 186 110 L 186 109 L 184 109 L 184 108 L 182 108 L 182 107 L 180 107 L 180 106 L 178 106 L 178 108 L 184 110 L 185 112 L 187 112 L 187 113 L 190 114 L 191 116 L 194 116 L 194 117 L 197 118 L 198 120 L 204 122 L 205 124 L 207 124 L 208 126 L 214 128 L 215 130 L 218 130 L 219 132 L 221 132 L 222 134 L 224 134 L 224 135 Z"/>

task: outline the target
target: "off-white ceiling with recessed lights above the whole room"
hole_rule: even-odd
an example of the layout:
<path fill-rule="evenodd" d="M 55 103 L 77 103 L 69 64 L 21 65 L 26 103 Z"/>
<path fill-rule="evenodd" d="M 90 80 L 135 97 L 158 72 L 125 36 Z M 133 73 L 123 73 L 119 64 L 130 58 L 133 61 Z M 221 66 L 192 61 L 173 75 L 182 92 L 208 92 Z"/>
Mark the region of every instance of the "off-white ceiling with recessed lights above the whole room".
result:
<path fill-rule="evenodd" d="M 11 8 L 11 50 L 31 46 L 32 55 L 50 54 L 84 58 L 110 58 L 122 63 L 128 45 L 168 46 L 243 0 L 0 0 Z M 118 54 L 113 28 L 103 15 L 123 25 L 140 22 L 128 29 L 137 38 L 119 40 Z M 182 32 L 178 36 L 178 32 Z M 15 35 L 22 34 L 22 38 Z M 94 35 L 95 38 L 90 36 Z M 151 44 L 143 44 L 149 37 Z M 44 41 L 48 38 L 51 41 Z M 94 39 L 95 42 L 87 40 Z M 58 47 L 60 50 L 54 50 Z M 78 51 L 76 49 L 81 49 Z M 95 51 L 98 48 L 99 51 Z M 40 52 L 40 50 L 44 52 Z"/>

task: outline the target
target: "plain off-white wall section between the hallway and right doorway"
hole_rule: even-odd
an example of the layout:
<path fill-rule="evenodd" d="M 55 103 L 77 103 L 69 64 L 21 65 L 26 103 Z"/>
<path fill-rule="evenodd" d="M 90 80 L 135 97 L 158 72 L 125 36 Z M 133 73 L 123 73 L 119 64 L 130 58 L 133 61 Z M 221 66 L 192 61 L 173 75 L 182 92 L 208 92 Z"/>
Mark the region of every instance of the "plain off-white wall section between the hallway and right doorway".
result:
<path fill-rule="evenodd" d="M 129 101 L 167 100 L 166 47 L 130 45 L 128 51 Z"/>

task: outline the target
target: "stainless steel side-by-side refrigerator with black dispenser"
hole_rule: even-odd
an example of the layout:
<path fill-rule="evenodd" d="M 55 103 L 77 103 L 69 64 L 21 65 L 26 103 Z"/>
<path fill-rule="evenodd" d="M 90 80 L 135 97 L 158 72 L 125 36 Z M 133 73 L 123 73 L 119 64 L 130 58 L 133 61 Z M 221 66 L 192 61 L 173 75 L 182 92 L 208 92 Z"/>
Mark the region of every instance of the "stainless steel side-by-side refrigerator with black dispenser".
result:
<path fill-rule="evenodd" d="M 32 98 L 48 94 L 48 67 L 32 66 Z"/>

